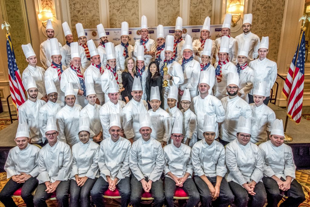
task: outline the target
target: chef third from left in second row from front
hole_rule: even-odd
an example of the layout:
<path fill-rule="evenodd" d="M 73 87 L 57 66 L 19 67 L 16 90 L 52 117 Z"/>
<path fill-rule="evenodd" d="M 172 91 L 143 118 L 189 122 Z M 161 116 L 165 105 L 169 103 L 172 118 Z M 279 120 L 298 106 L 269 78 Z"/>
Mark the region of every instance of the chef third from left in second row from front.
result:
<path fill-rule="evenodd" d="M 67 83 L 64 93 L 66 106 L 60 109 L 56 114 L 57 126 L 59 128 L 58 139 L 68 143 L 70 147 L 79 142 L 77 134 L 82 106 L 75 104 L 75 97 L 76 92 L 72 84 Z"/>

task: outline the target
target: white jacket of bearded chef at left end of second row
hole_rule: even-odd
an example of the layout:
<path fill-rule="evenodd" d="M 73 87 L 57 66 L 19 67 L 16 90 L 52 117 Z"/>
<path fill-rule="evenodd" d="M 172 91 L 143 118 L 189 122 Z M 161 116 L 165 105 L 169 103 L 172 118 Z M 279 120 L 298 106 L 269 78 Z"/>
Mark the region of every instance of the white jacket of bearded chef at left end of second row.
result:
<path fill-rule="evenodd" d="M 18 108 L 18 121 L 27 123 L 31 143 L 42 142 L 42 134 L 39 128 L 39 110 L 45 104 L 45 101 L 37 99 L 33 102 L 29 99 Z"/>

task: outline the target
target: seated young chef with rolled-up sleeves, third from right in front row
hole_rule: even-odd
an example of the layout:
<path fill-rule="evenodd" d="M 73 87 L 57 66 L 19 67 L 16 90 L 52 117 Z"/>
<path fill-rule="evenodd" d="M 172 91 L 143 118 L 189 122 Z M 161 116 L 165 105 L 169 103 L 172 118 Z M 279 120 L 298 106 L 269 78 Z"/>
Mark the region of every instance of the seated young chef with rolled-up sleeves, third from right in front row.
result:
<path fill-rule="evenodd" d="M 227 172 L 225 149 L 215 141 L 217 128 L 216 117 L 204 115 L 204 138 L 192 148 L 194 180 L 203 207 L 209 207 L 211 200 L 214 200 L 212 206 L 228 206 L 234 200 L 228 182 L 224 178 Z"/>

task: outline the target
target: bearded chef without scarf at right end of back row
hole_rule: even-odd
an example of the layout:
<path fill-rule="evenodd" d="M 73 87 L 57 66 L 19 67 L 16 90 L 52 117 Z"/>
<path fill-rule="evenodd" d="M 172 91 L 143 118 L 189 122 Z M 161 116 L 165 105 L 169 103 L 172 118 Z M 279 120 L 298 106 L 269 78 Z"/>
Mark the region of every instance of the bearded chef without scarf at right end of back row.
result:
<path fill-rule="evenodd" d="M 244 14 L 243 15 L 243 23 L 242 23 L 242 34 L 239 34 L 235 39 L 237 40 L 238 47 L 242 45 L 242 43 L 246 40 L 250 42 L 250 47 L 247 55 L 247 62 L 254 60 L 258 56 L 259 49 L 259 37 L 256 34 L 251 32 L 252 29 L 252 14 Z"/>

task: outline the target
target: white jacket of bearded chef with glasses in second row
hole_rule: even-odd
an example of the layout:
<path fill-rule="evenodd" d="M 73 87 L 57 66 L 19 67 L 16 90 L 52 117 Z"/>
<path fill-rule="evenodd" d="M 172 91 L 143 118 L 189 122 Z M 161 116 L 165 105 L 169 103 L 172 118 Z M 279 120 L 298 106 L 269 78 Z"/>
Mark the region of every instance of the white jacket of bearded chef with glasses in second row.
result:
<path fill-rule="evenodd" d="M 221 139 L 231 142 L 237 139 L 237 125 L 240 116 L 246 119 L 251 118 L 250 105 L 236 96 L 230 99 L 228 96 L 221 99 L 225 110 L 225 119 L 221 125 Z"/>

